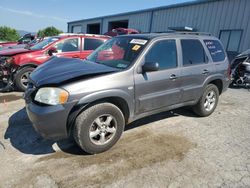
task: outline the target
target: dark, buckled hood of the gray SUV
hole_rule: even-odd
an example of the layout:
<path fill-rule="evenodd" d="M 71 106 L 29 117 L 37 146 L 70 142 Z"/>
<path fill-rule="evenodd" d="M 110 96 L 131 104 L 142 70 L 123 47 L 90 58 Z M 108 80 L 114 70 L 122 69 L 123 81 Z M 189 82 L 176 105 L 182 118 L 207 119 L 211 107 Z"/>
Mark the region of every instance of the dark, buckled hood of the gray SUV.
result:
<path fill-rule="evenodd" d="M 36 68 L 30 75 L 33 83 L 40 87 L 42 85 L 59 84 L 64 81 L 79 77 L 90 77 L 119 69 L 97 64 L 91 61 L 83 61 L 73 58 L 53 57 L 43 65 Z"/>

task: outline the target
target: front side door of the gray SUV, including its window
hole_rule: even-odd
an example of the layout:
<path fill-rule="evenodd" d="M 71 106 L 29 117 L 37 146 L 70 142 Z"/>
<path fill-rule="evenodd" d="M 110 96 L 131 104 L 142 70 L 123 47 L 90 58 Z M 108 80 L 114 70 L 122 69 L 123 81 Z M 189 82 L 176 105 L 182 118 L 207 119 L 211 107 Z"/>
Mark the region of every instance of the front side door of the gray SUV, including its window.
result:
<path fill-rule="evenodd" d="M 180 70 L 178 68 L 176 41 L 154 42 L 141 62 L 158 62 L 159 70 L 137 73 L 135 71 L 136 113 L 157 110 L 178 104 L 181 100 Z"/>

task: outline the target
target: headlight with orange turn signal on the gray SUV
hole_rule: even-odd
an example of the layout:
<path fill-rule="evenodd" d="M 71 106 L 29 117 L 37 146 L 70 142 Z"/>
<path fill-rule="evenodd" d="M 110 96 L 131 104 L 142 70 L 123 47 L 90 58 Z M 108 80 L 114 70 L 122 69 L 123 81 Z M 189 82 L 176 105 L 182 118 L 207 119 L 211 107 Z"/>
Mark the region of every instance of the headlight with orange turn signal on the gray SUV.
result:
<path fill-rule="evenodd" d="M 44 87 L 36 93 L 35 101 L 48 105 L 58 105 L 66 103 L 68 97 L 69 93 L 64 89 Z"/>

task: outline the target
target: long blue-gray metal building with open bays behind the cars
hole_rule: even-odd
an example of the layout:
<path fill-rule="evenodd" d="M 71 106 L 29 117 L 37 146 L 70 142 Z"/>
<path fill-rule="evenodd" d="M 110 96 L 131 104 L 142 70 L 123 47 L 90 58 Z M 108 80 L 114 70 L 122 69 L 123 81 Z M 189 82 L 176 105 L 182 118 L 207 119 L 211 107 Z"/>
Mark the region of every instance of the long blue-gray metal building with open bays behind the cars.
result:
<path fill-rule="evenodd" d="M 68 22 L 68 32 L 103 34 L 117 27 L 141 32 L 193 29 L 221 39 L 229 54 L 250 48 L 250 0 L 201 0 Z"/>

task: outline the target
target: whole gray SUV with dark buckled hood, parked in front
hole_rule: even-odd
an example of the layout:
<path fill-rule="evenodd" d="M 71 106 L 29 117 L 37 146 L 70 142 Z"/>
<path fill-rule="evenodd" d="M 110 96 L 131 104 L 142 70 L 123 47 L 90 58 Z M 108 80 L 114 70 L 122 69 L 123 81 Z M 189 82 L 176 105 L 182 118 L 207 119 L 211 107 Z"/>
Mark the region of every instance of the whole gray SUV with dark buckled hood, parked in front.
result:
<path fill-rule="evenodd" d="M 119 36 L 84 61 L 54 57 L 38 67 L 26 109 L 43 137 L 73 135 L 84 151 L 100 153 L 136 119 L 182 106 L 210 115 L 230 83 L 229 70 L 220 41 L 209 34 Z"/>

